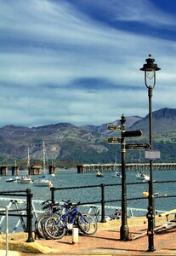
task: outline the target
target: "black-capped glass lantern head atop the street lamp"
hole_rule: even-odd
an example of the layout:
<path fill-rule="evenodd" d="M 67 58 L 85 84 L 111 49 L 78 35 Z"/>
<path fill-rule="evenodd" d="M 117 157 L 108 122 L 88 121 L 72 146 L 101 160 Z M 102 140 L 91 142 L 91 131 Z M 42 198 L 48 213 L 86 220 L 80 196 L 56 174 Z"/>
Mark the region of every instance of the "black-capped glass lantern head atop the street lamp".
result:
<path fill-rule="evenodd" d="M 143 65 L 140 70 L 145 72 L 145 85 L 147 88 L 154 88 L 156 84 L 156 71 L 160 70 L 160 67 L 157 67 L 157 64 L 154 63 L 155 59 L 149 55 L 149 58 L 145 60 L 146 63 Z M 153 80 L 152 84 L 148 84 L 148 80 Z"/>

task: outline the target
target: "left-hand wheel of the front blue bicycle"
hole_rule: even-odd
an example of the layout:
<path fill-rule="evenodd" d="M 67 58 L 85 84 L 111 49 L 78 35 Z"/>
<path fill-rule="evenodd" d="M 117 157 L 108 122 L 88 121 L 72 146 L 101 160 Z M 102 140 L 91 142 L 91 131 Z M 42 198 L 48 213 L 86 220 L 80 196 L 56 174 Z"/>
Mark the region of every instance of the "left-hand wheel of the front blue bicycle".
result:
<path fill-rule="evenodd" d="M 65 236 L 65 225 L 63 221 L 60 219 L 58 221 L 58 218 L 49 217 L 46 219 L 44 224 L 44 230 L 47 233 L 47 235 L 52 239 L 60 239 L 63 236 Z"/>

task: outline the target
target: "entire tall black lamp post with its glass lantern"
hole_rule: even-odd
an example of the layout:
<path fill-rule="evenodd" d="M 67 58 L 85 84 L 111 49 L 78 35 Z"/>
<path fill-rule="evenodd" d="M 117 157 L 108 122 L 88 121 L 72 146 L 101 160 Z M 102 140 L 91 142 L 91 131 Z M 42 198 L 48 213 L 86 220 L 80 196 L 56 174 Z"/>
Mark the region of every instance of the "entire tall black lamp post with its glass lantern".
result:
<path fill-rule="evenodd" d="M 140 70 L 145 72 L 145 85 L 148 89 L 149 96 L 149 137 L 150 137 L 150 149 L 152 149 L 152 91 L 156 85 L 156 71 L 160 70 L 157 64 L 154 63 L 155 59 L 149 55 L 149 58 L 145 60 L 146 63 Z M 154 227 L 155 227 L 155 201 L 153 193 L 153 160 L 150 160 L 150 181 L 149 181 L 149 207 L 147 212 L 148 218 L 148 241 L 149 241 L 149 252 L 154 251 Z"/>

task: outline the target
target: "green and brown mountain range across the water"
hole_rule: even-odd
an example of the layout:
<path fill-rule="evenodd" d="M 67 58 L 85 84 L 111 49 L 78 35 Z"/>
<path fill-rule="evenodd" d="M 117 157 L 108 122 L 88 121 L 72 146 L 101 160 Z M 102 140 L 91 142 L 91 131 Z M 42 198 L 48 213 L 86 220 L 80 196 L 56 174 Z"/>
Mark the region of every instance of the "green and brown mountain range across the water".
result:
<path fill-rule="evenodd" d="M 162 162 L 175 161 L 176 109 L 162 108 L 152 113 L 153 148 L 161 151 Z M 120 125 L 117 119 L 111 124 Z M 120 144 L 108 144 L 107 137 L 119 137 L 120 132 L 107 130 L 102 125 L 71 125 L 58 123 L 38 127 L 6 125 L 0 128 L 0 162 L 27 159 L 27 150 L 33 160 L 43 158 L 43 140 L 48 160 L 74 160 L 82 163 L 109 163 L 121 159 Z M 128 143 L 149 143 L 149 116 L 126 117 L 126 131 L 141 130 L 141 137 L 128 138 Z M 145 161 L 144 150 L 128 150 L 128 162 Z"/>

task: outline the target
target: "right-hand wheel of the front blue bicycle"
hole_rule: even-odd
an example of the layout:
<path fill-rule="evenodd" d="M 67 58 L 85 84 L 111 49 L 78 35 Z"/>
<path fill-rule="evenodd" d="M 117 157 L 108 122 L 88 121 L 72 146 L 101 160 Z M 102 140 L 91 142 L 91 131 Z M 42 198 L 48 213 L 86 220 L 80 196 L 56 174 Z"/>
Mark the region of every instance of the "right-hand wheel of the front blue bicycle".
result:
<path fill-rule="evenodd" d="M 98 229 L 98 224 L 91 215 L 83 213 L 78 217 L 78 227 L 84 234 L 94 235 Z"/>

